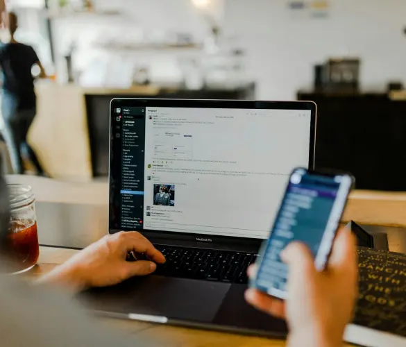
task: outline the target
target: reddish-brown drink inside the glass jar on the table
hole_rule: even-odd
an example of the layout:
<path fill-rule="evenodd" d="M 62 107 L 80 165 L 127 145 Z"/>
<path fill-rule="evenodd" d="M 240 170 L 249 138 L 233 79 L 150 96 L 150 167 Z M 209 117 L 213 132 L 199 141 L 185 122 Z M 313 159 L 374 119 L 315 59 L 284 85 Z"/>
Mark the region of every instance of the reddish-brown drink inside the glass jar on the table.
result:
<path fill-rule="evenodd" d="M 37 223 L 29 225 L 24 221 L 10 222 L 10 257 L 14 262 L 15 272 L 30 268 L 37 263 L 40 256 L 40 246 L 38 244 Z"/>

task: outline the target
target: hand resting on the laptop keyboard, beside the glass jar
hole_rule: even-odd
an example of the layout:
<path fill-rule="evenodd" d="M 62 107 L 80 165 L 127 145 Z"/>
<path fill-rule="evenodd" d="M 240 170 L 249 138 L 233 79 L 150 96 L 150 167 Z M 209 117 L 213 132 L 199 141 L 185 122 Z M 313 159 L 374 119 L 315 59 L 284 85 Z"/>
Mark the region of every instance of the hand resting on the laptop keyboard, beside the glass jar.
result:
<path fill-rule="evenodd" d="M 127 262 L 130 251 L 145 253 L 153 262 Z M 118 232 L 88 246 L 38 282 L 63 285 L 73 291 L 105 287 L 133 276 L 149 275 L 156 269 L 155 262 L 162 264 L 165 258 L 148 239 L 139 232 Z"/>

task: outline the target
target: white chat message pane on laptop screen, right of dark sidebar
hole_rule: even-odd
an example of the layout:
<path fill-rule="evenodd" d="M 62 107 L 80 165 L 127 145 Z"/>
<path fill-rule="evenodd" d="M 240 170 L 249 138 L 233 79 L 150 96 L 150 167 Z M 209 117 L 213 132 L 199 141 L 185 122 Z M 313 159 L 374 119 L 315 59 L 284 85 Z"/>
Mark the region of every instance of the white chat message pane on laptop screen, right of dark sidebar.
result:
<path fill-rule="evenodd" d="M 146 108 L 144 228 L 264 239 L 310 111 Z"/>

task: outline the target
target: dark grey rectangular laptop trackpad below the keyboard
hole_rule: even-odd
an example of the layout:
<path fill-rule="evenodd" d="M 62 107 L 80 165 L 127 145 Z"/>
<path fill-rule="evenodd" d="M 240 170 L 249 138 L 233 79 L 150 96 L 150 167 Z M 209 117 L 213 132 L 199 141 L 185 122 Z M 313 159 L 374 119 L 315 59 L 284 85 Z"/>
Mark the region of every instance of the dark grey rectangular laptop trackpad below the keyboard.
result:
<path fill-rule="evenodd" d="M 211 322 L 228 289 L 221 282 L 149 276 L 137 283 L 129 308 L 137 314 Z"/>

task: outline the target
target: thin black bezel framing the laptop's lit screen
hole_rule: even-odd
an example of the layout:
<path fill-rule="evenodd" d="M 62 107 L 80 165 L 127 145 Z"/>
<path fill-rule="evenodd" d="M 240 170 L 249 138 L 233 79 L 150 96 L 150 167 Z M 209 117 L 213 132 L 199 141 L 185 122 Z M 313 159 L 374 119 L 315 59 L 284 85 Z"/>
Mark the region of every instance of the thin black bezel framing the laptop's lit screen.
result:
<path fill-rule="evenodd" d="M 119 196 L 114 196 L 114 189 L 111 185 L 111 151 L 112 151 L 112 117 L 114 116 L 115 108 L 123 107 L 155 107 L 155 108 L 237 108 L 237 109 L 247 109 L 247 110 L 310 110 L 310 148 L 309 148 L 309 169 L 314 169 L 314 158 L 316 149 L 316 103 L 312 101 L 228 101 L 228 100 L 184 100 L 184 99 L 112 99 L 110 103 L 110 144 L 109 144 L 109 233 L 115 233 L 119 230 L 110 228 L 110 218 L 112 201 L 119 198 Z M 196 242 L 196 238 L 210 238 L 212 244 L 227 244 L 252 246 L 253 248 L 259 248 L 263 239 L 253 239 L 246 237 L 235 237 L 235 236 L 218 236 L 211 234 L 196 234 L 187 232 L 169 232 L 165 230 L 137 230 L 142 232 L 143 235 L 149 237 L 151 241 L 154 239 L 169 239 L 169 240 L 183 240 Z"/>

